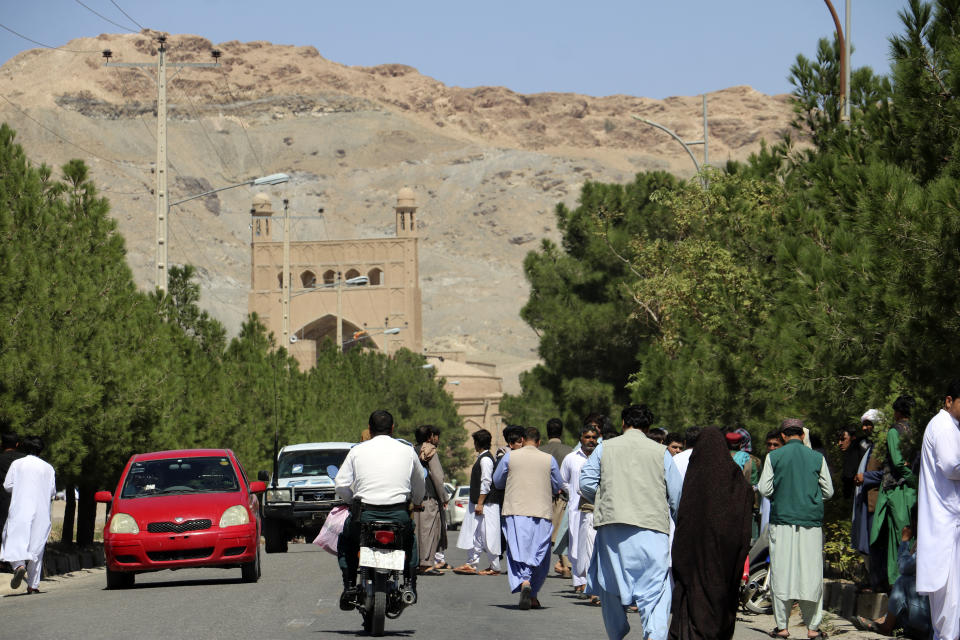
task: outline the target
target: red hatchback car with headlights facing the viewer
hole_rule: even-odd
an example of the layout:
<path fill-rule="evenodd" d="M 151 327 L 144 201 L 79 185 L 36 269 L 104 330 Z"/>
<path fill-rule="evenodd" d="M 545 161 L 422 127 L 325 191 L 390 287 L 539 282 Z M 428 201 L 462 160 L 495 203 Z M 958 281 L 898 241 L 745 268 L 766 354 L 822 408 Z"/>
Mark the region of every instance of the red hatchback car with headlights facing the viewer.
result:
<path fill-rule="evenodd" d="M 127 462 L 103 529 L 107 588 L 137 573 L 187 567 L 239 568 L 260 577 L 260 508 L 266 484 L 247 479 L 229 449 L 141 453 Z"/>

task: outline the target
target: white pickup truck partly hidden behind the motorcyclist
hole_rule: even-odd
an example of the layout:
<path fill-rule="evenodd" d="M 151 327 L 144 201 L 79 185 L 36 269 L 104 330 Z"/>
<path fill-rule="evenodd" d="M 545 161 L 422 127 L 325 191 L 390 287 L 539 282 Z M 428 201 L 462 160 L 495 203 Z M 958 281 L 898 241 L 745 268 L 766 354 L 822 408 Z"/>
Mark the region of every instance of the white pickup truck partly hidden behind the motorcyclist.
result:
<path fill-rule="evenodd" d="M 334 492 L 327 467 L 343 465 L 354 444 L 307 442 L 280 450 L 276 483 L 269 478 L 260 503 L 267 553 L 286 553 L 287 542 L 297 536 L 312 541 L 330 510 L 343 504 Z"/>

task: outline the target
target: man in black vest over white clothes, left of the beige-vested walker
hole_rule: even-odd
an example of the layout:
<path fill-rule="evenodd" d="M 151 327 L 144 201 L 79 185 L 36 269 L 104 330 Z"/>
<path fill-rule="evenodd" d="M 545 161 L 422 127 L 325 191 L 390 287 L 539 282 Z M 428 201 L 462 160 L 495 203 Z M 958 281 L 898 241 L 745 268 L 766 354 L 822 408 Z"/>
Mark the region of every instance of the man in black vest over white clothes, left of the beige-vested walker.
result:
<path fill-rule="evenodd" d="M 500 502 L 503 492 L 493 487 L 495 463 L 490 455 L 490 432 L 478 429 L 473 434 L 477 460 L 470 474 L 470 502 L 460 525 L 457 547 L 466 549 L 467 562 L 453 571 L 459 574 L 495 575 L 500 573 Z M 480 556 L 487 554 L 488 566 L 478 570 Z"/>

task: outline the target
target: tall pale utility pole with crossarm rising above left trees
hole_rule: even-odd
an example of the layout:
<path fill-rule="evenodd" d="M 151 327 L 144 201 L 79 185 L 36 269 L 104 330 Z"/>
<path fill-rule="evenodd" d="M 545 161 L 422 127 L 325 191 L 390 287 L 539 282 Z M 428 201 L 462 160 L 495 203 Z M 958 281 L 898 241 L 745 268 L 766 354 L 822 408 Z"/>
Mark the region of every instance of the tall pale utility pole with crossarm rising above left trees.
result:
<path fill-rule="evenodd" d="M 113 52 L 110 49 L 103 51 L 107 67 L 136 67 L 141 69 L 155 68 L 157 71 L 157 266 L 154 280 L 163 295 L 167 293 L 167 224 L 170 207 L 167 194 L 167 37 L 158 36 L 156 62 L 110 62 Z M 171 66 L 183 67 L 216 67 L 219 66 L 220 51 L 214 49 L 214 62 L 175 62 Z"/>

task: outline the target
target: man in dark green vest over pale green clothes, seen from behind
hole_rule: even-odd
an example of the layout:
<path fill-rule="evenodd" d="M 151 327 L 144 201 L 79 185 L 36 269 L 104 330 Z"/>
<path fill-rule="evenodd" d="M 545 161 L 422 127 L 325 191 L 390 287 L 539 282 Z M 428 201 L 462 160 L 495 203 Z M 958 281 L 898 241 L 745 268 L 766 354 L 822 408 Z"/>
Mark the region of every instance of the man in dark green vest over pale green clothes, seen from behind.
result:
<path fill-rule="evenodd" d="M 767 456 L 758 486 L 770 498 L 770 593 L 777 622 L 771 635 L 790 636 L 790 609 L 798 600 L 807 637 L 819 638 L 823 501 L 833 496 L 833 482 L 823 456 L 803 446 L 803 421 L 784 420 L 780 433 L 784 445 Z"/>

